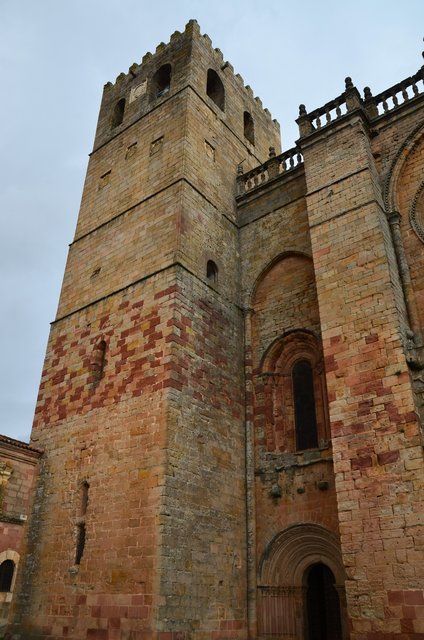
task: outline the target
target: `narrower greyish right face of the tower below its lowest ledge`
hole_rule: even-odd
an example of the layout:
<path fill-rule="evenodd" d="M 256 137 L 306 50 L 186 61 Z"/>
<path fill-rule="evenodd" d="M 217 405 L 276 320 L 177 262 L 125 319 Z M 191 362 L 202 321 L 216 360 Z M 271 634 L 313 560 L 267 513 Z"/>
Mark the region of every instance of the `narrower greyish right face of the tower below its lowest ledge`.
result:
<path fill-rule="evenodd" d="M 162 631 L 246 635 L 242 315 L 180 269 L 161 518 Z"/>

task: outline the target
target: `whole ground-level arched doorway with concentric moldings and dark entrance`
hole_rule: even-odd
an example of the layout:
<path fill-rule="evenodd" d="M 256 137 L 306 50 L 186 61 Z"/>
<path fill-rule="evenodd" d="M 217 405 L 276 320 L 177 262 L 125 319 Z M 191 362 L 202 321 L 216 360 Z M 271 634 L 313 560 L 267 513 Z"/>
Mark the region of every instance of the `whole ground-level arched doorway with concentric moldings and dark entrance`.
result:
<path fill-rule="evenodd" d="M 277 534 L 258 576 L 258 637 L 348 640 L 345 574 L 337 536 L 315 524 Z"/>

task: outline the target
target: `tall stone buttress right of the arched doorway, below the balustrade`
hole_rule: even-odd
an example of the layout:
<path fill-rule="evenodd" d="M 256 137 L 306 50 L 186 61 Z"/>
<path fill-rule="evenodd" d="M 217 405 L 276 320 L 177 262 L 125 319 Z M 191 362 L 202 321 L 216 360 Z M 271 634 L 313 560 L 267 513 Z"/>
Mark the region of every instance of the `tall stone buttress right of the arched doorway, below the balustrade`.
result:
<path fill-rule="evenodd" d="M 418 637 L 388 608 L 394 591 L 421 597 L 422 450 L 383 195 L 359 118 L 302 148 L 351 637 Z"/>

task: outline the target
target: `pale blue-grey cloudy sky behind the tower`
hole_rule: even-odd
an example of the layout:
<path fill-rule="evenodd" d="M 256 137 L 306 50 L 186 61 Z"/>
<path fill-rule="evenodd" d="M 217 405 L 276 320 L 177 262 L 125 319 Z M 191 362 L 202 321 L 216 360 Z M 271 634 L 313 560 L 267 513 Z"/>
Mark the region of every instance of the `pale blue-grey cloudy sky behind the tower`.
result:
<path fill-rule="evenodd" d="M 0 0 L 0 433 L 27 441 L 103 85 L 196 18 L 297 137 L 298 105 L 422 64 L 423 0 Z"/>

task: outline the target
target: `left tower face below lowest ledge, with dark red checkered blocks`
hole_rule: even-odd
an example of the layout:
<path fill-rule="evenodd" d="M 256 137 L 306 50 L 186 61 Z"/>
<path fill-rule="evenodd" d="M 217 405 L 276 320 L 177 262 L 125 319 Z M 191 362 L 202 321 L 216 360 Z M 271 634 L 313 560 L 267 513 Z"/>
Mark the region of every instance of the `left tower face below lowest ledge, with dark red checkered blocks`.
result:
<path fill-rule="evenodd" d="M 119 637 L 151 628 L 174 280 L 163 272 L 53 325 L 32 434 L 45 454 L 34 562 L 23 575 L 25 637 Z M 93 354 L 100 339 L 107 348 L 99 378 Z"/>

